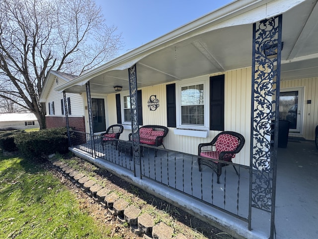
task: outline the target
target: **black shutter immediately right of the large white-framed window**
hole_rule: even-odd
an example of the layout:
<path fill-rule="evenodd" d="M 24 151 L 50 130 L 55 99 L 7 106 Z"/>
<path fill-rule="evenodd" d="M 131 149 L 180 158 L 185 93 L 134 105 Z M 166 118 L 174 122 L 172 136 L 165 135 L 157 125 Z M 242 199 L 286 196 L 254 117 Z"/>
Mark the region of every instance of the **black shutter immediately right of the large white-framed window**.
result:
<path fill-rule="evenodd" d="M 210 77 L 210 130 L 224 131 L 224 79 Z"/>

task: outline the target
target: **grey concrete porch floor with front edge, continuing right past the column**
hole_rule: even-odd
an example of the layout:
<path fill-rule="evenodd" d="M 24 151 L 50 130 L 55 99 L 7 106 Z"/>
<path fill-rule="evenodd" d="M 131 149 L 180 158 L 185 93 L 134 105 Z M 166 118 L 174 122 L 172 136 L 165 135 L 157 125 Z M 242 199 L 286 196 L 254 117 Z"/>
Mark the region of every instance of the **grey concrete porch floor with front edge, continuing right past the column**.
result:
<path fill-rule="evenodd" d="M 254 209 L 252 230 L 247 229 L 249 167 L 223 168 L 220 184 L 208 167 L 198 170 L 197 155 L 145 147 L 141 164 L 115 144 L 104 149 L 95 138 L 74 145 L 71 151 L 143 190 L 165 199 L 192 215 L 224 230 L 235 238 L 268 238 L 268 213 Z M 94 155 L 94 156 L 93 156 Z M 141 171 L 141 177 L 136 172 Z M 275 206 L 276 238 L 316 238 L 318 230 L 318 150 L 314 141 L 290 139 L 287 148 L 277 151 Z"/>

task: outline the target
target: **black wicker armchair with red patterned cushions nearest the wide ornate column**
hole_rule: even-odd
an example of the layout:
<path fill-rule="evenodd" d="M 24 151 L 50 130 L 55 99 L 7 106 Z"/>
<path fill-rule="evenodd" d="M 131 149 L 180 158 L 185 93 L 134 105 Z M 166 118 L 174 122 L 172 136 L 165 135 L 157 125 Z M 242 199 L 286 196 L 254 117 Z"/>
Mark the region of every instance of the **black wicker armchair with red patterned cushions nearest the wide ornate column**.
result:
<path fill-rule="evenodd" d="M 222 167 L 227 166 L 226 162 L 219 162 L 217 160 L 223 160 L 232 162 L 232 158 L 236 153 L 244 146 L 244 137 L 232 131 L 224 131 L 219 133 L 210 143 L 200 143 L 198 146 L 198 155 L 205 158 L 198 158 L 199 171 L 202 170 L 202 165 L 212 168 L 218 177 L 217 183 L 220 183 L 220 176 L 222 174 Z M 209 159 L 208 159 L 209 158 Z M 237 169 L 233 165 L 236 173 L 239 175 Z"/>

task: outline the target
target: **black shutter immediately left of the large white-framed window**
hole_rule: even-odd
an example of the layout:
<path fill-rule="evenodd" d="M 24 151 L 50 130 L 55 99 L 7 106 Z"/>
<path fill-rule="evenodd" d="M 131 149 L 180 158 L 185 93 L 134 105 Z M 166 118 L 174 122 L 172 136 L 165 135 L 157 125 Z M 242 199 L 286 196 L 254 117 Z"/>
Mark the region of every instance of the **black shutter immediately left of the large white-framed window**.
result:
<path fill-rule="evenodd" d="M 176 127 L 175 118 L 175 84 L 166 85 L 167 96 L 167 126 Z"/>

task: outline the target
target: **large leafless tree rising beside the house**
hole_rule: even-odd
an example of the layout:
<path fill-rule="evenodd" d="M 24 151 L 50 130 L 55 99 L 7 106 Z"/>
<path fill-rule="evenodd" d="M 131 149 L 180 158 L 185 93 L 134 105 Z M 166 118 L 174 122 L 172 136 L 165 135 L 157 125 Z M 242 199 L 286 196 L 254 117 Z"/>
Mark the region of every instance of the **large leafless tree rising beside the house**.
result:
<path fill-rule="evenodd" d="M 48 72 L 80 75 L 113 59 L 122 47 L 116 30 L 94 0 L 1 0 L 0 98 L 45 128 L 38 100 Z"/>

